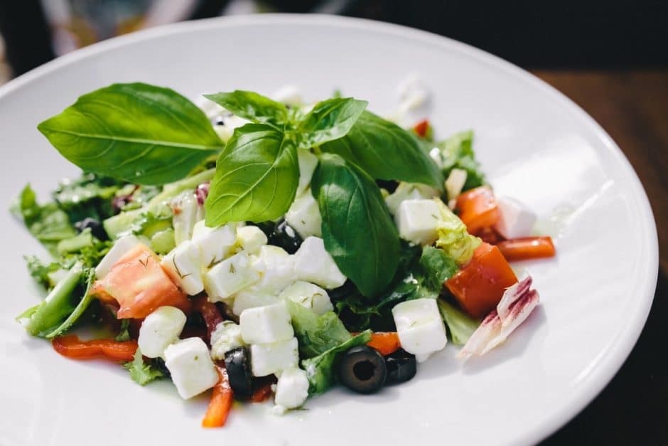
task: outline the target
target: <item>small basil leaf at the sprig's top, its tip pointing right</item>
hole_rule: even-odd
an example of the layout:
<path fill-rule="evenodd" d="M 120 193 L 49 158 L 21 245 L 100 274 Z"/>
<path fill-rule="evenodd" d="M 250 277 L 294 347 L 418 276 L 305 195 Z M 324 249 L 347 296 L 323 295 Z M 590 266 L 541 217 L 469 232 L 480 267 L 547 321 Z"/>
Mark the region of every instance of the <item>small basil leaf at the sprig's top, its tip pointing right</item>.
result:
<path fill-rule="evenodd" d="M 367 101 L 352 97 L 335 97 L 318 102 L 299 123 L 299 147 L 308 149 L 344 137 L 367 104 Z"/>

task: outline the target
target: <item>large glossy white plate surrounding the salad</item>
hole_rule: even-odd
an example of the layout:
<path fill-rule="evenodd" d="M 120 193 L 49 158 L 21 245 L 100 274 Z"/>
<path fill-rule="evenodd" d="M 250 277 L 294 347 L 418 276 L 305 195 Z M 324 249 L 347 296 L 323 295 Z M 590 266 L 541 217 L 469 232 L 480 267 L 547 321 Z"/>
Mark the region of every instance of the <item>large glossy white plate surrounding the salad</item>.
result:
<path fill-rule="evenodd" d="M 190 97 L 286 83 L 307 98 L 336 88 L 396 105 L 419 73 L 443 136 L 476 132 L 497 193 L 561 218 L 554 260 L 531 267 L 542 304 L 504 346 L 463 365 L 448 346 L 413 381 L 377 395 L 335 390 L 283 418 L 235 406 L 203 430 L 206 398 L 170 383 L 141 388 L 126 371 L 55 354 L 13 317 L 38 301 L 21 255 L 42 252 L 0 213 L 2 445 L 345 445 L 537 442 L 612 378 L 645 322 L 657 279 L 652 212 L 628 161 L 603 129 L 541 81 L 462 43 L 421 31 L 328 16 L 248 16 L 136 33 L 55 60 L 0 89 L 1 202 L 30 181 L 42 197 L 76 170 L 36 130 L 78 95 L 114 82 L 166 85 Z M 554 228 L 553 228 L 554 229 Z"/>

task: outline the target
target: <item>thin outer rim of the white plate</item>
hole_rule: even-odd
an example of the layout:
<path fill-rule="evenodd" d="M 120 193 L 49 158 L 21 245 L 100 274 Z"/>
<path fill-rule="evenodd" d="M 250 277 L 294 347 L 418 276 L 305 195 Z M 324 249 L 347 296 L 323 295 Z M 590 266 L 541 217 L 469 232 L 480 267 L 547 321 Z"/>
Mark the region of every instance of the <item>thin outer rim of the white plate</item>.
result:
<path fill-rule="evenodd" d="M 547 414 L 539 423 L 527 427 L 521 435 L 515 437 L 516 440 L 529 443 L 540 442 L 544 438 L 562 428 L 572 418 L 591 403 L 596 396 L 603 391 L 605 386 L 614 378 L 616 373 L 620 370 L 623 363 L 631 353 L 642 329 L 647 322 L 652 302 L 654 300 L 654 292 L 657 286 L 659 274 L 659 246 L 657 228 L 650 206 L 650 201 L 647 198 L 647 193 L 642 186 L 640 178 L 637 176 L 635 169 L 633 169 L 630 161 L 622 152 L 620 147 L 613 141 L 613 139 L 605 132 L 605 129 L 596 122 L 587 112 L 585 112 L 576 102 L 573 102 L 564 93 L 556 90 L 548 83 L 537 78 L 537 76 L 529 73 L 527 70 L 510 63 L 509 61 L 487 53 L 480 48 L 475 48 L 467 43 L 456 41 L 453 38 L 440 36 L 429 31 L 422 31 L 408 26 L 397 25 L 394 23 L 386 23 L 374 21 L 366 18 L 352 18 L 345 16 L 333 16 L 328 14 L 256 14 L 256 15 L 242 15 L 242 16 L 220 16 L 214 18 L 205 18 L 195 21 L 184 21 L 178 23 L 170 23 L 163 26 L 156 26 L 146 30 L 136 31 L 124 36 L 117 36 L 106 41 L 95 43 L 85 48 L 80 48 L 72 53 L 60 56 L 48 63 L 40 65 L 33 70 L 24 73 L 0 86 L 0 102 L 5 97 L 9 97 L 24 87 L 29 87 L 34 81 L 45 78 L 57 70 L 67 68 L 79 60 L 89 58 L 95 55 L 102 55 L 107 51 L 112 51 L 124 46 L 131 46 L 134 43 L 141 41 L 149 41 L 151 39 L 161 38 L 179 33 L 190 33 L 202 31 L 209 28 L 232 28 L 235 26 L 263 26 L 263 25 L 298 25 L 298 26 L 333 26 L 339 28 L 363 28 L 364 31 L 371 33 L 390 33 L 395 36 L 404 36 L 411 40 L 419 40 L 430 45 L 444 48 L 448 51 L 456 51 L 460 55 L 468 58 L 473 58 L 479 63 L 490 65 L 492 68 L 502 70 L 507 75 L 510 75 L 517 80 L 528 83 L 532 87 L 542 90 L 551 100 L 556 101 L 573 113 L 578 120 L 586 124 L 586 127 L 591 134 L 593 134 L 599 142 L 608 151 L 611 158 L 618 163 L 622 168 L 622 174 L 627 176 L 629 186 L 632 188 L 632 195 L 640 198 L 637 206 L 641 211 L 641 226 L 644 233 L 643 239 L 647 242 L 648 258 L 647 258 L 647 274 L 637 281 L 642 290 L 639 294 L 643 300 L 638 305 L 635 313 L 630 318 L 627 328 L 627 334 L 620 339 L 620 342 L 613 348 L 600 353 L 600 358 L 596 367 L 585 378 L 585 383 L 579 386 L 578 390 L 574 391 L 573 399 L 568 404 L 562 404 L 559 408 Z"/>

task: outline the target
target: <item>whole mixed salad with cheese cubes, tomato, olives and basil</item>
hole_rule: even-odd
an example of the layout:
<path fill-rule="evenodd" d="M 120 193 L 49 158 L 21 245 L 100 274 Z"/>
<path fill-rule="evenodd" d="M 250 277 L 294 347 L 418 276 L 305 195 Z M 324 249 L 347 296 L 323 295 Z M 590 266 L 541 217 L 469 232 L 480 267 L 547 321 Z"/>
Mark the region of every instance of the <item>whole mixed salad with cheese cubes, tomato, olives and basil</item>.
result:
<path fill-rule="evenodd" d="M 473 132 L 436 139 L 340 94 L 195 105 L 114 84 L 38 129 L 83 173 L 13 206 L 52 257 L 26 257 L 46 297 L 18 322 L 141 386 L 210 391 L 205 427 L 234 399 L 280 414 L 335 385 L 382 391 L 448 341 L 485 354 L 539 302 L 509 262 L 555 255 L 485 182 Z"/>

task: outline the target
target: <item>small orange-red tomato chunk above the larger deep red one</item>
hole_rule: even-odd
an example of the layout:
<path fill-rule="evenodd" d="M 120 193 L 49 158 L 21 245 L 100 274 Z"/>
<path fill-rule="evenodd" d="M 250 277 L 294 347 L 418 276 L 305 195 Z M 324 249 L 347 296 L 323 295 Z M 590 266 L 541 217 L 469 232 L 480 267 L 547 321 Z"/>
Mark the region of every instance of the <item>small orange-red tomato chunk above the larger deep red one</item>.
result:
<path fill-rule="evenodd" d="M 457 197 L 456 209 L 468 233 L 475 234 L 499 221 L 500 213 L 490 186 L 480 186 Z"/>

